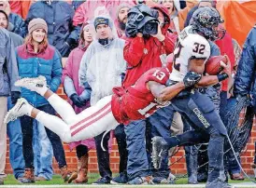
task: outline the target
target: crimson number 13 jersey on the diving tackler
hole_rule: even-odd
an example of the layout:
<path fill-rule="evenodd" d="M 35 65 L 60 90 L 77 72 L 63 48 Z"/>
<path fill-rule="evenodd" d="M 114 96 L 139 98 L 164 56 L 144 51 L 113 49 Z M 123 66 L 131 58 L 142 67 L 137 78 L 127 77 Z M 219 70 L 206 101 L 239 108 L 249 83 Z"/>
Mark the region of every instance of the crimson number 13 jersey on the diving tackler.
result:
<path fill-rule="evenodd" d="M 149 81 L 165 85 L 170 73 L 166 68 L 153 68 L 141 75 L 134 86 L 114 87 L 111 109 L 115 119 L 121 124 L 129 124 L 131 120 L 145 119 L 161 107 L 147 88 Z"/>

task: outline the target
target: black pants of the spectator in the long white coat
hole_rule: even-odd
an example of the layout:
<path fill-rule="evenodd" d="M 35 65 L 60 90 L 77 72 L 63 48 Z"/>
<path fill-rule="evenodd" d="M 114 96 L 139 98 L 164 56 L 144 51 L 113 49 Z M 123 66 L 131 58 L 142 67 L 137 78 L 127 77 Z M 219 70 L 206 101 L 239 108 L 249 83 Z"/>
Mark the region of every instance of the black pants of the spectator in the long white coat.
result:
<path fill-rule="evenodd" d="M 126 141 L 125 141 L 125 133 L 124 133 L 124 126 L 118 126 L 114 131 L 115 137 L 118 142 L 119 153 L 120 153 L 120 173 L 126 173 L 127 167 L 127 150 L 126 150 Z M 109 153 L 108 153 L 108 141 L 110 138 L 110 132 L 104 137 L 103 146 L 106 151 L 103 151 L 101 147 L 101 140 L 103 138 L 104 133 L 96 136 L 94 138 L 96 144 L 96 152 L 98 158 L 98 167 L 101 177 L 112 177 L 112 171 L 109 165 Z"/>

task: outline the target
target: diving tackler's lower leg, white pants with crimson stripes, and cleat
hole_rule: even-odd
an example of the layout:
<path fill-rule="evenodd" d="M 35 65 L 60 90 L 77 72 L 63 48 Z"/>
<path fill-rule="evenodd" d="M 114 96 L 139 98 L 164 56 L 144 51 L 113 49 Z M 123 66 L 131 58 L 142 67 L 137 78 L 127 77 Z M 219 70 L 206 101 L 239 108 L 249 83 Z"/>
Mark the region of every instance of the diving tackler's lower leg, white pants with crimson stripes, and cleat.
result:
<path fill-rule="evenodd" d="M 68 125 L 55 115 L 37 110 L 24 99 L 20 99 L 7 113 L 5 122 L 9 122 L 22 115 L 36 118 L 45 127 L 55 132 L 63 141 L 81 141 L 110 131 L 119 123 L 111 111 L 111 96 L 98 101 L 93 107 L 87 108 L 77 115 L 74 123 Z"/>

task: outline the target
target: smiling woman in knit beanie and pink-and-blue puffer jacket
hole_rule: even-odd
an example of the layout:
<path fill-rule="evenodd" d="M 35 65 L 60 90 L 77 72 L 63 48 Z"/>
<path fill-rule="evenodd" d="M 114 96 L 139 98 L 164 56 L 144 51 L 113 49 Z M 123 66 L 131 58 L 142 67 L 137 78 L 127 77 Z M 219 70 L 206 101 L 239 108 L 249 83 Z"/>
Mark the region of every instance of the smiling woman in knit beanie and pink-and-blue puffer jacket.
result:
<path fill-rule="evenodd" d="M 24 45 L 17 47 L 16 59 L 18 61 L 19 74 L 21 77 L 37 77 L 43 75 L 47 78 L 47 84 L 54 92 L 61 84 L 62 64 L 61 56 L 55 47 L 48 44 L 48 26 L 45 20 L 34 19 L 28 25 L 29 34 Z M 21 88 L 21 96 L 42 111 L 55 114 L 54 109 L 43 97 L 28 89 Z M 21 179 L 22 183 L 35 182 L 34 176 L 34 153 L 33 119 L 21 116 L 21 131 L 25 172 Z M 46 128 L 47 135 L 52 145 L 53 154 L 58 162 L 64 181 L 71 182 L 78 177 L 76 172 L 67 169 L 64 147 L 60 137 Z"/>

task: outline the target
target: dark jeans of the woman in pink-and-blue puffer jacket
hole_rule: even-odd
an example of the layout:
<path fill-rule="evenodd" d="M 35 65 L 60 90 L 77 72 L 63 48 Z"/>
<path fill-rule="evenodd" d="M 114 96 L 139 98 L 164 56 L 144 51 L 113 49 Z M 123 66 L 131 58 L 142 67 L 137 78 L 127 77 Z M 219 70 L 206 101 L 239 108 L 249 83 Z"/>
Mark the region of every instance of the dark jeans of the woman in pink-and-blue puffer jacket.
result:
<path fill-rule="evenodd" d="M 48 105 L 37 107 L 38 110 L 48 114 L 55 114 L 54 109 Z M 29 116 L 21 116 L 21 131 L 22 131 L 22 148 L 25 161 L 25 168 L 34 168 L 34 152 L 33 152 L 33 121 L 34 119 Z M 60 137 L 46 128 L 47 136 L 52 145 L 53 154 L 58 162 L 59 168 L 66 166 L 64 147 Z"/>

